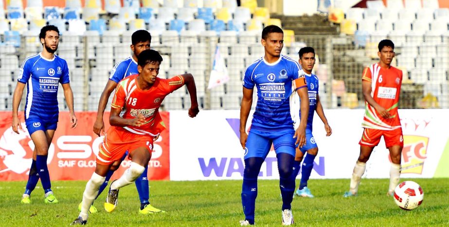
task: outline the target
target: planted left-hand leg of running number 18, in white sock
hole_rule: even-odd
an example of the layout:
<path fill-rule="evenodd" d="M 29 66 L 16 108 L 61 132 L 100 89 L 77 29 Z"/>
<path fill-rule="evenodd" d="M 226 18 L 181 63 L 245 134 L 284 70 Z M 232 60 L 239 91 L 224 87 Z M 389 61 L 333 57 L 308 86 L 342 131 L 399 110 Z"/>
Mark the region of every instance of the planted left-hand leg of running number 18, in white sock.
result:
<path fill-rule="evenodd" d="M 90 177 L 89 181 L 86 184 L 86 188 L 83 193 L 83 201 L 81 202 L 81 211 L 78 215 L 78 218 L 73 221 L 72 225 L 84 225 L 87 222 L 89 217 L 89 210 L 93 201 L 95 201 L 96 196 L 98 195 L 98 189 L 105 182 L 106 174 L 108 173 L 110 164 L 106 164 L 106 162 L 102 162 L 105 164 L 98 163 L 95 166 L 95 171 Z"/>

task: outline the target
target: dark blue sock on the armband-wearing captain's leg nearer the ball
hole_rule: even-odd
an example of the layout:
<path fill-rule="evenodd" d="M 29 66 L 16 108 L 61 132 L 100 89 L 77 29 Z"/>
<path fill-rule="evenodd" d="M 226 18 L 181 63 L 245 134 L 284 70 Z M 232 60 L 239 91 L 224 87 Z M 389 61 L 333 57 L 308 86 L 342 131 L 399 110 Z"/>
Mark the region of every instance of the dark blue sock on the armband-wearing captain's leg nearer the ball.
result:
<path fill-rule="evenodd" d="M 282 210 L 291 210 L 291 201 L 295 192 L 295 180 L 291 177 L 295 157 L 287 153 L 277 154 L 279 169 L 279 188 L 282 195 Z"/>

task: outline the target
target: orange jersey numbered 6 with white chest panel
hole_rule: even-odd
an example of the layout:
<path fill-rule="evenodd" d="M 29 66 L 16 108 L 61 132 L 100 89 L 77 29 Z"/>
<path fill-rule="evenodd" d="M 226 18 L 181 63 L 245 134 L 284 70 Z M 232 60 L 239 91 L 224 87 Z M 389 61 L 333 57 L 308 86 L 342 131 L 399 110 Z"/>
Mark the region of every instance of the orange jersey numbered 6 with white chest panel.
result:
<path fill-rule="evenodd" d="M 362 81 L 371 82 L 371 96 L 385 108 L 389 118 L 383 118 L 368 102 L 365 101 L 365 116 L 362 127 L 378 130 L 395 130 L 401 127 L 397 104 L 402 83 L 402 71 L 390 66 L 382 68 L 377 63 L 363 70 Z"/>

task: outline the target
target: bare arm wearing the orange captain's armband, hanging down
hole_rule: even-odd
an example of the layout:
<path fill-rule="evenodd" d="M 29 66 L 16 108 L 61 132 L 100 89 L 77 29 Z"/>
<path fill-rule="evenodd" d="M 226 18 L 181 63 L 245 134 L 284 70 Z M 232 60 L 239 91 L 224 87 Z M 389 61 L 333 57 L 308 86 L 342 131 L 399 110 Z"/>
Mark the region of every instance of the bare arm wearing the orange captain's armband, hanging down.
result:
<path fill-rule="evenodd" d="M 304 85 L 298 86 L 298 81 L 304 81 Z M 301 120 L 299 122 L 299 127 L 295 131 L 295 135 L 293 138 L 296 138 L 295 144 L 299 147 L 305 145 L 305 128 L 307 127 L 307 117 L 309 115 L 309 95 L 307 90 L 307 85 L 305 83 L 305 78 L 299 78 L 295 80 L 298 87 L 296 92 L 298 93 L 300 99 L 300 108 L 301 108 Z"/>

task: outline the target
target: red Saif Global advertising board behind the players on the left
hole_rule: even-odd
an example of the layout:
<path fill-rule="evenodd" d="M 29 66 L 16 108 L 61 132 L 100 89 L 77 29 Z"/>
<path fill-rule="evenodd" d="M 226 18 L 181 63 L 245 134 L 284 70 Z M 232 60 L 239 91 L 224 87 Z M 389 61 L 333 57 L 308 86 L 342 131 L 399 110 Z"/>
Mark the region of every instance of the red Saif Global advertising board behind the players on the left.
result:
<path fill-rule="evenodd" d="M 169 113 L 161 112 L 167 127 L 154 143 L 148 163 L 148 179 L 170 179 L 170 122 Z M 96 154 L 102 138 L 92 131 L 96 112 L 77 112 L 78 126 L 70 128 L 68 112 L 59 114 L 59 122 L 49 148 L 48 168 L 52 180 L 88 180 L 95 169 Z M 27 180 L 34 144 L 25 127 L 23 113 L 19 114 L 23 132 L 11 128 L 11 112 L 0 112 L 0 180 Z M 105 113 L 105 129 L 109 127 L 109 113 Z M 118 178 L 129 167 L 125 159 L 112 178 Z"/>

